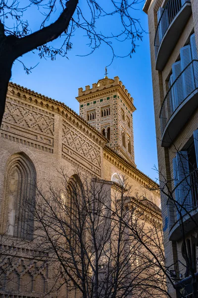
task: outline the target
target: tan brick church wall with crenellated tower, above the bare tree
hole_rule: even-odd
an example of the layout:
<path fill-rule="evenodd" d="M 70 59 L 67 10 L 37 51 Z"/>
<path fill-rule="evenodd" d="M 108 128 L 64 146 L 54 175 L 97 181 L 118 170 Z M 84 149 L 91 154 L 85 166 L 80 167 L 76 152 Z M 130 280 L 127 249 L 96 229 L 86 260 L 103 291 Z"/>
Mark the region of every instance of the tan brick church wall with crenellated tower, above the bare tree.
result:
<path fill-rule="evenodd" d="M 0 233 L 7 235 L 4 249 L 30 228 L 24 225 L 30 218 L 27 212 L 21 214 L 20 204 L 24 195 L 35 194 L 31 181 L 44 189 L 49 181 L 58 185 L 57 170 L 62 167 L 68 177 L 76 168 L 104 181 L 117 182 L 124 175 L 131 185 L 130 197 L 138 194 L 160 206 L 158 185 L 135 165 L 135 106 L 119 78 L 105 77 L 92 88 L 79 88 L 77 100 L 80 115 L 61 102 L 9 83 L 0 128 Z M 34 237 L 34 230 L 28 234 Z M 19 241 L 10 254 L 4 262 L 9 268 L 6 291 L 13 297 L 32 298 L 47 293 L 50 271 L 37 270 L 34 252 Z"/>

